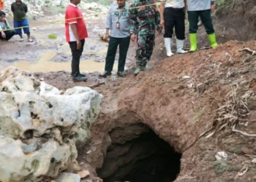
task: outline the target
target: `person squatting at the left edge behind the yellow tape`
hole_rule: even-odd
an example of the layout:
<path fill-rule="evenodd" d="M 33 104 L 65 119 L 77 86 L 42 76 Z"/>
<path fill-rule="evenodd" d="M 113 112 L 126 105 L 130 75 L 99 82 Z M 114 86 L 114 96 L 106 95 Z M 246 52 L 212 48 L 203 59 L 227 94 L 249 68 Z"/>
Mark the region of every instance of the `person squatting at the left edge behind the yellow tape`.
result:
<path fill-rule="evenodd" d="M 10 29 L 11 26 L 9 25 L 7 19 L 5 18 L 5 13 L 0 11 L 0 40 L 10 40 L 12 36 L 15 35 L 14 30 L 4 31 Z"/>

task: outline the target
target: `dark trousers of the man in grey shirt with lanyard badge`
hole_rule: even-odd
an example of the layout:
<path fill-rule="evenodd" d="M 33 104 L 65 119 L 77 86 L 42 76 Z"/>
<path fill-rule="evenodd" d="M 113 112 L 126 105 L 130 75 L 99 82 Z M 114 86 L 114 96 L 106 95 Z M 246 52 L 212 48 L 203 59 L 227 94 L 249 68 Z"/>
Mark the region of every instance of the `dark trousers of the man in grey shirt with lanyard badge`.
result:
<path fill-rule="evenodd" d="M 111 72 L 116 58 L 116 50 L 119 45 L 118 71 L 124 71 L 125 60 L 129 48 L 129 36 L 126 38 L 115 38 L 110 36 L 108 53 L 106 57 L 105 71 Z"/>

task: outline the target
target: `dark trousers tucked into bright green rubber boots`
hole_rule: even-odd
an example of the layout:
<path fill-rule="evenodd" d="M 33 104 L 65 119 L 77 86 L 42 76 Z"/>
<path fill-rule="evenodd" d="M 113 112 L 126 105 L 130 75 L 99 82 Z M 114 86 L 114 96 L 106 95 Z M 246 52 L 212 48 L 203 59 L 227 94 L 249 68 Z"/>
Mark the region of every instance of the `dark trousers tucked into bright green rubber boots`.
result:
<path fill-rule="evenodd" d="M 214 33 L 214 25 L 211 20 L 211 9 L 203 11 L 188 11 L 189 15 L 189 33 L 197 33 L 198 30 L 198 17 L 201 18 L 203 25 L 206 28 L 207 34 Z"/>

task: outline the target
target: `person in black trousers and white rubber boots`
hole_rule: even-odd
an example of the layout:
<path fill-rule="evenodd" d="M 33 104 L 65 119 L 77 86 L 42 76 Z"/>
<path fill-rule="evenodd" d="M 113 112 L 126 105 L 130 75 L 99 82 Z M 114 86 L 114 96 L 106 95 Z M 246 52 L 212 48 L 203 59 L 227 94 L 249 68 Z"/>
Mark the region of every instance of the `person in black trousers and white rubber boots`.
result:
<path fill-rule="evenodd" d="M 166 0 L 161 1 L 160 25 L 165 24 L 164 38 L 167 56 L 169 57 L 173 55 L 171 48 L 174 27 L 176 33 L 177 53 L 187 53 L 187 51 L 183 50 L 185 40 L 185 12 L 187 7 L 187 0 L 176 0 L 170 2 L 166 2 Z"/>

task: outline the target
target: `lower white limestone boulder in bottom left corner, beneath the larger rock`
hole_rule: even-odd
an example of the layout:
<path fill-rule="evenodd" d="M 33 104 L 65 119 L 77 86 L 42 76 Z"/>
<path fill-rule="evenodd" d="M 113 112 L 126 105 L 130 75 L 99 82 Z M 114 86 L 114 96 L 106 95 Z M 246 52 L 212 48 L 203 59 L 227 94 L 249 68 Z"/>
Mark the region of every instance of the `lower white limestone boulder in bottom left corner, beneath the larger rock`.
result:
<path fill-rule="evenodd" d="M 42 175 L 57 178 L 78 156 L 75 143 L 38 143 L 37 150 L 24 154 L 25 143 L 0 136 L 0 181 L 40 181 Z"/>

